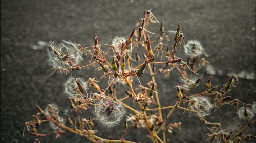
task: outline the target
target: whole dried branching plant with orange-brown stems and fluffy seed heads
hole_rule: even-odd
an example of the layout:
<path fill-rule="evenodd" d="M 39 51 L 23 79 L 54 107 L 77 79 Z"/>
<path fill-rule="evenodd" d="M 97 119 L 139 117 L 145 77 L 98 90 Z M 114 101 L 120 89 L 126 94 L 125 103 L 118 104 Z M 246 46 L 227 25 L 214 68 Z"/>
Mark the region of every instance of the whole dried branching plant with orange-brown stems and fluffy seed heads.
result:
<path fill-rule="evenodd" d="M 191 90 L 195 90 L 199 86 L 202 78 L 207 76 L 206 72 L 198 74 L 199 69 L 208 63 L 203 56 L 204 54 L 207 57 L 204 48 L 199 41 L 194 39 L 185 43 L 180 23 L 178 23 L 176 31 L 172 30 L 166 34 L 163 22 L 161 22 L 159 35 L 152 40 L 150 36 L 154 37 L 157 34 L 151 32 L 148 26 L 154 23 L 159 23 L 159 21 L 151 10 L 145 11 L 143 18 L 139 19 L 137 23 L 138 28 L 135 28 L 126 39 L 115 37 L 112 44 L 105 44 L 106 51 L 102 50 L 103 46 L 99 44 L 97 35 L 94 36 L 94 45 L 90 47 L 83 47 L 70 41 L 62 41 L 60 44 L 56 44 L 54 41 L 49 42 L 49 65 L 52 67 L 50 70 L 53 73 L 72 75 L 64 83 L 64 86 L 73 117 L 72 113 L 66 113 L 66 120 L 64 120 L 58 113 L 59 107 L 54 104 L 49 104 L 45 110 L 37 106 L 39 112 L 33 115 L 32 121 L 25 123 L 31 134 L 37 137 L 56 134 L 56 138 L 58 138 L 68 131 L 84 136 L 92 142 L 132 142 L 125 140 L 127 130 L 146 128 L 150 134 L 148 137 L 153 142 L 166 142 L 166 131 L 172 133 L 173 130 L 181 130 L 181 122 L 166 125 L 166 121 L 178 108 L 190 112 L 190 115 L 196 115 L 205 124 L 212 126 L 212 128 L 208 128 L 210 133 L 207 134 L 210 142 L 240 142 L 241 138 L 255 137 L 243 134 L 256 121 L 255 102 L 245 104 L 227 96 L 227 93 L 238 82 L 236 75 L 232 75 L 222 88 L 220 88 L 221 85 L 212 86 L 212 77 L 210 76 L 205 83 L 204 91 L 190 94 Z M 169 45 L 170 43 L 172 45 Z M 176 51 L 181 48 L 188 57 L 186 62 L 176 54 Z M 136 49 L 142 50 L 142 54 L 138 53 Z M 89 61 L 91 63 L 82 66 L 83 56 L 91 57 Z M 131 63 L 137 66 L 132 67 Z M 73 76 L 75 70 L 89 66 L 95 67 L 103 73 L 101 78 L 108 80 L 104 90 L 97 84 L 99 82 L 97 80 L 101 80 L 99 77 L 96 79 L 92 77 L 84 81 L 82 78 Z M 157 88 L 161 86 L 161 82 L 157 83 L 155 76 L 164 74 L 165 77 L 168 77 L 174 70 L 179 73 L 180 77 L 178 78 L 181 79 L 181 82 L 176 84 L 177 98 L 173 99 L 176 103 L 162 107 L 159 96 L 164 95 L 158 93 Z M 151 77 L 150 81 L 143 85 L 141 81 L 146 79 L 141 76 L 145 71 L 149 71 Z M 133 81 L 138 81 L 138 85 L 135 85 L 136 82 Z M 126 91 L 123 86 L 118 86 L 120 84 L 129 87 L 129 90 Z M 139 91 L 135 92 L 135 88 Z M 124 103 L 129 98 L 133 99 L 132 102 L 135 102 L 139 109 Z M 211 115 L 223 105 L 234 106 L 238 110 L 238 116 L 247 122 L 247 125 L 239 132 L 229 134 L 220 123 L 212 123 L 206 119 L 206 116 Z M 163 116 L 162 110 L 168 109 L 168 115 Z M 127 111 L 133 114 L 128 115 Z M 85 112 L 91 114 L 87 117 L 81 116 Z M 45 122 L 50 123 L 53 131 L 46 134 L 39 133 L 37 128 Z M 104 139 L 96 135 L 98 131 L 94 130 L 95 124 L 99 124 L 102 128 L 112 128 L 121 122 L 124 122 L 124 131 L 123 135 L 118 137 L 119 139 Z M 40 141 L 36 139 L 35 142 Z"/>

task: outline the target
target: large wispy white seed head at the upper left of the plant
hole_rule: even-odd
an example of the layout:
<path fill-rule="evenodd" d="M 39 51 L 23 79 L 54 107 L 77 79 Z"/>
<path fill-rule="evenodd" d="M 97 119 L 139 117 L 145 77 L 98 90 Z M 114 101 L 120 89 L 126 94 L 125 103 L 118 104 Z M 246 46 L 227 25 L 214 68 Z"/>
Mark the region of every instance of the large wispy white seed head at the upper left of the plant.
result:
<path fill-rule="evenodd" d="M 72 42 L 63 41 L 56 45 L 54 41 L 48 43 L 50 49 L 47 49 L 49 56 L 49 65 L 51 69 L 60 73 L 68 73 L 72 65 L 79 64 L 83 60 L 81 45 Z"/>

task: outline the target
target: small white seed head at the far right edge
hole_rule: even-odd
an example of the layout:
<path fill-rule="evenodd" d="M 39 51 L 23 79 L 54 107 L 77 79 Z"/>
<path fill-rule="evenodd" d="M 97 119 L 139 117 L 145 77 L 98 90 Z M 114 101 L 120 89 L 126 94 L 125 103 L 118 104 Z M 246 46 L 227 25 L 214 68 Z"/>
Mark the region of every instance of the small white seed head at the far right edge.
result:
<path fill-rule="evenodd" d="M 245 120 L 245 121 L 247 121 L 247 119 L 250 121 L 255 116 L 255 112 L 253 111 L 253 109 L 249 107 L 246 107 L 246 112 L 244 107 L 239 108 L 237 111 L 237 114 L 241 120 Z"/>

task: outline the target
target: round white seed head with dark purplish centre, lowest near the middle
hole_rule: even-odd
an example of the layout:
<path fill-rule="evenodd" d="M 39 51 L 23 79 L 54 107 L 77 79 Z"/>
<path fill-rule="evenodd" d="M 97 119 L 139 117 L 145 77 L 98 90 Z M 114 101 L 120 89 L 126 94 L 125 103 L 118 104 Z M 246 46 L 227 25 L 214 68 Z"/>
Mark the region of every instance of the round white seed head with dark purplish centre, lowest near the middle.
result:
<path fill-rule="evenodd" d="M 121 122 L 126 111 L 121 103 L 102 97 L 95 106 L 97 121 L 104 127 L 112 128 Z"/>

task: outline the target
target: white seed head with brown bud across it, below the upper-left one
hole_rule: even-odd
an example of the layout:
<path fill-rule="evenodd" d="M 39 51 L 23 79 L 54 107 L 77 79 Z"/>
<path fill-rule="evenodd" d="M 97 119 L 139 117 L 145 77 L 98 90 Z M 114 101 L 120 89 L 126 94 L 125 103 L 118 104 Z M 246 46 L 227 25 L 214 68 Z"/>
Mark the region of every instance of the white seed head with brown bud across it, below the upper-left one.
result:
<path fill-rule="evenodd" d="M 71 97 L 87 97 L 88 83 L 81 78 L 70 77 L 65 86 L 65 93 Z"/>

